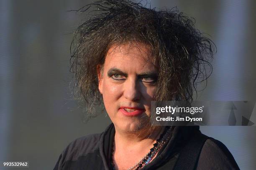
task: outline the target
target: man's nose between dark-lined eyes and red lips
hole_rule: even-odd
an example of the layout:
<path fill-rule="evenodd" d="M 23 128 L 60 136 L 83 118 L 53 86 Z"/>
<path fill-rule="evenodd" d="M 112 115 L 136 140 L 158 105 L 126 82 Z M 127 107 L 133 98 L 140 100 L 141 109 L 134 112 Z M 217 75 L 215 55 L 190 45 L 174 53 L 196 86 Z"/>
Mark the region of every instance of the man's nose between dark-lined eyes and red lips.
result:
<path fill-rule="evenodd" d="M 141 87 L 136 78 L 125 81 L 123 96 L 130 101 L 137 101 L 141 98 Z"/>

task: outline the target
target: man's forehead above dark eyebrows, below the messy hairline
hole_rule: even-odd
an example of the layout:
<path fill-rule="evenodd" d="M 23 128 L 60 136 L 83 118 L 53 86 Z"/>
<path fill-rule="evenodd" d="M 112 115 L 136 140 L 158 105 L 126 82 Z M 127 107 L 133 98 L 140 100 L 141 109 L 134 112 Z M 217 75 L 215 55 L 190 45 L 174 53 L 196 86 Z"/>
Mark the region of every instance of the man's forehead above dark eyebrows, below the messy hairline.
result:
<path fill-rule="evenodd" d="M 154 67 L 151 60 L 151 52 L 145 44 L 112 45 L 106 54 L 104 67 Z"/>

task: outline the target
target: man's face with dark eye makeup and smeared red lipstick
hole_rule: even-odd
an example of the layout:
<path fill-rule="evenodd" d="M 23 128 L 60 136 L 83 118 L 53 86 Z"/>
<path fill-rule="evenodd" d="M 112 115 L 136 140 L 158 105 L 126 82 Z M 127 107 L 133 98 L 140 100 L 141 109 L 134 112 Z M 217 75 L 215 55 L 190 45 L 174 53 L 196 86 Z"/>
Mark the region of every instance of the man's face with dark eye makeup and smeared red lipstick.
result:
<path fill-rule="evenodd" d="M 147 62 L 144 44 L 113 46 L 99 77 L 99 90 L 116 130 L 133 132 L 148 124 L 158 72 Z"/>

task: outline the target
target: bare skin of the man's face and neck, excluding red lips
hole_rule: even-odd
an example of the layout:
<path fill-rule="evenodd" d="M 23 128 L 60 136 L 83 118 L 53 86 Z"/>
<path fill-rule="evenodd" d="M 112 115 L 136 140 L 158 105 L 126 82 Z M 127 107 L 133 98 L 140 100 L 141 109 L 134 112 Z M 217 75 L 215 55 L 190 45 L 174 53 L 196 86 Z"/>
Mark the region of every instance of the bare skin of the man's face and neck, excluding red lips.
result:
<path fill-rule="evenodd" d="M 156 128 L 148 133 L 157 83 L 157 70 L 145 60 L 148 57 L 150 52 L 144 44 L 113 45 L 104 65 L 97 67 L 99 90 L 115 126 L 113 162 L 118 170 L 127 170 L 141 160 L 163 131 Z M 125 115 L 126 107 L 143 113 Z"/>

